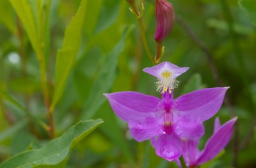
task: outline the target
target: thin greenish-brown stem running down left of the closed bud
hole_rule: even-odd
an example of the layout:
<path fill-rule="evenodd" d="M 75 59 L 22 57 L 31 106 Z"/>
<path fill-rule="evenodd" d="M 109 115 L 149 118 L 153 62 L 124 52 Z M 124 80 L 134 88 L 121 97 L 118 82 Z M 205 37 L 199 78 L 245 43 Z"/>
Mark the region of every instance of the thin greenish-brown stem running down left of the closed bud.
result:
<path fill-rule="evenodd" d="M 145 48 L 145 51 L 147 52 L 147 55 L 148 55 L 148 58 L 151 60 L 152 64 L 156 65 L 156 62 L 154 60 L 154 57 L 152 55 L 152 53 L 150 52 L 149 50 L 149 46 L 148 46 L 148 42 L 147 42 L 147 38 L 146 38 L 146 33 L 145 33 L 145 29 L 144 29 L 144 26 L 143 26 L 143 22 L 141 20 L 141 16 L 142 16 L 142 13 L 143 13 L 143 9 L 141 11 L 141 13 L 137 10 L 137 7 L 134 3 L 134 1 L 127 1 L 130 6 L 131 6 L 131 11 L 132 13 L 134 13 L 134 15 L 136 15 L 136 18 L 137 18 L 137 22 L 138 22 L 138 25 L 139 25 L 139 29 L 140 29 L 140 35 L 141 35 L 141 39 L 143 41 L 143 45 L 144 45 L 144 48 Z M 142 4 L 143 5 L 143 4 Z"/>

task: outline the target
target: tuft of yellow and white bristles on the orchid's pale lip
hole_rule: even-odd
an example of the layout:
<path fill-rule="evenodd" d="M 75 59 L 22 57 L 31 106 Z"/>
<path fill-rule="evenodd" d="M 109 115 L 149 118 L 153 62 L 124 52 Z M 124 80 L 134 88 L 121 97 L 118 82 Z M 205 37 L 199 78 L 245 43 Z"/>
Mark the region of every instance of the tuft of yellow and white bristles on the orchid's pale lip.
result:
<path fill-rule="evenodd" d="M 161 92 L 161 94 L 164 94 L 164 92 L 167 92 L 167 90 L 169 90 L 169 93 L 171 94 L 172 90 L 179 86 L 179 83 L 180 81 L 175 80 L 170 71 L 163 71 L 160 74 L 158 81 L 156 82 L 157 91 Z"/>

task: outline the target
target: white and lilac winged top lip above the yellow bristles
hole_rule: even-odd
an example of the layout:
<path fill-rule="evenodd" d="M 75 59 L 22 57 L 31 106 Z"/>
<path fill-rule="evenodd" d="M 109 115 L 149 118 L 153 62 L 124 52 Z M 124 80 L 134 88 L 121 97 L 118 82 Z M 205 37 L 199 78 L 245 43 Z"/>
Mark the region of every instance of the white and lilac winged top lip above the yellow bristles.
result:
<path fill-rule="evenodd" d="M 159 78 L 159 76 L 161 76 L 161 73 L 163 73 L 164 71 L 170 71 L 173 78 L 177 78 L 178 76 L 180 76 L 180 74 L 188 71 L 188 69 L 189 67 L 179 67 L 175 66 L 170 62 L 162 62 L 153 67 L 146 67 L 143 69 L 143 71 L 145 73 L 152 74 L 156 78 Z"/>

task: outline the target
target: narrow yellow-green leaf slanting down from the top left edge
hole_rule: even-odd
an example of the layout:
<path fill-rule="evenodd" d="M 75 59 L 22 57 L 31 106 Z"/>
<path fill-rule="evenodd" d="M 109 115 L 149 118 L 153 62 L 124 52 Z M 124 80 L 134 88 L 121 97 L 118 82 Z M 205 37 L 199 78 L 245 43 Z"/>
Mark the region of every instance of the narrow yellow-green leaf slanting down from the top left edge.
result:
<path fill-rule="evenodd" d="M 35 52 L 38 53 L 40 47 L 39 47 L 39 41 L 38 41 L 38 36 L 36 31 L 35 15 L 31 8 L 31 4 L 29 4 L 29 0 L 19 0 L 19 1 L 9 0 L 9 1 L 12 4 L 17 15 L 19 16 L 24 26 L 24 29 L 28 34 L 28 38 L 31 41 L 31 45 L 33 46 Z"/>

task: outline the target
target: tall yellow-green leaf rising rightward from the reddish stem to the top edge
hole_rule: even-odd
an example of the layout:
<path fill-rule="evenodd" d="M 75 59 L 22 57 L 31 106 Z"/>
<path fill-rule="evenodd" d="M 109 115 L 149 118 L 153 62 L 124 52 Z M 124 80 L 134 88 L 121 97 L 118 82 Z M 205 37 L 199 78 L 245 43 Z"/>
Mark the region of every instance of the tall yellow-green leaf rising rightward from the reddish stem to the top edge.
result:
<path fill-rule="evenodd" d="M 55 90 L 51 108 L 54 109 L 66 86 L 68 76 L 76 60 L 77 51 L 81 42 L 86 1 L 82 0 L 76 16 L 72 18 L 65 31 L 63 45 L 58 50 L 55 67 Z"/>

